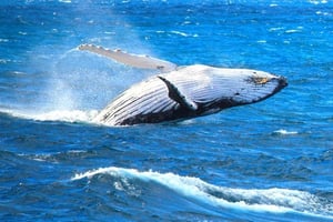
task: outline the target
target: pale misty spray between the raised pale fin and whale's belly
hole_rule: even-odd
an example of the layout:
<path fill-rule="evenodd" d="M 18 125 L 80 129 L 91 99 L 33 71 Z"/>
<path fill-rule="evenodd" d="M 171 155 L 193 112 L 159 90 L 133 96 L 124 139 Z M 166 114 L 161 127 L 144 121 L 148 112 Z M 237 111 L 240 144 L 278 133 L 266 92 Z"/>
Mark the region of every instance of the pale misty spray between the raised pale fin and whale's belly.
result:
<path fill-rule="evenodd" d="M 101 110 L 125 88 L 150 74 L 73 48 L 50 64 L 36 109 Z"/>

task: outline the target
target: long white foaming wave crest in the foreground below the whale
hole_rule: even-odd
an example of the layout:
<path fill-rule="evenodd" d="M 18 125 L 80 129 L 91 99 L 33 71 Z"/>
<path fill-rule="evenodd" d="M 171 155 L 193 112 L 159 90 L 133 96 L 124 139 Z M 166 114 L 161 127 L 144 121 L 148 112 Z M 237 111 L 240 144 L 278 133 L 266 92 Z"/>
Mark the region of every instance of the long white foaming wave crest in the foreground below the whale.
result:
<path fill-rule="evenodd" d="M 198 178 L 181 176 L 174 173 L 159 173 L 153 171 L 140 172 L 135 169 L 101 168 L 81 174 L 71 180 L 92 179 L 98 174 L 109 174 L 121 182 L 129 180 L 153 181 L 164 185 L 186 198 L 204 202 L 214 206 L 241 209 L 249 211 L 272 213 L 302 213 L 313 216 L 332 218 L 333 204 L 323 205 L 321 200 L 307 192 L 289 189 L 232 189 L 209 184 Z M 114 189 L 123 191 L 124 188 L 114 183 Z"/>

